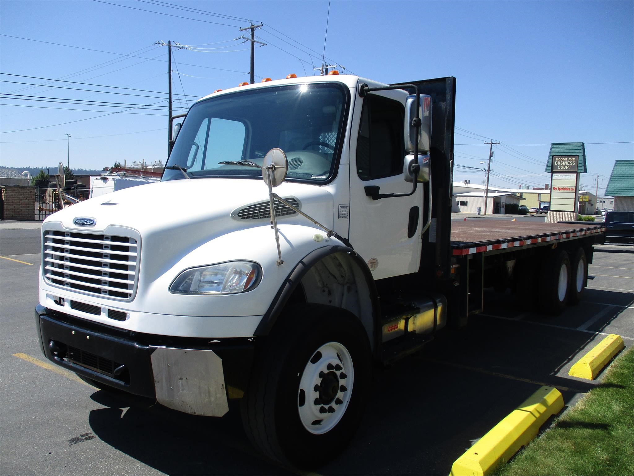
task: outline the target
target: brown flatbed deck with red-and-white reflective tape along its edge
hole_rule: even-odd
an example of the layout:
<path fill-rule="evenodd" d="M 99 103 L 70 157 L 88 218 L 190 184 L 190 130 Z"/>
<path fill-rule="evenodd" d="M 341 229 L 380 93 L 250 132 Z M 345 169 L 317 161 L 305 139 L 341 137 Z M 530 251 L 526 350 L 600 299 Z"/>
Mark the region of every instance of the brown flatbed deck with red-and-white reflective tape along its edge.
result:
<path fill-rule="evenodd" d="M 453 221 L 451 248 L 454 256 L 484 253 L 505 248 L 536 245 L 541 242 L 574 239 L 605 232 L 602 223 L 526 223 L 510 220 Z"/>

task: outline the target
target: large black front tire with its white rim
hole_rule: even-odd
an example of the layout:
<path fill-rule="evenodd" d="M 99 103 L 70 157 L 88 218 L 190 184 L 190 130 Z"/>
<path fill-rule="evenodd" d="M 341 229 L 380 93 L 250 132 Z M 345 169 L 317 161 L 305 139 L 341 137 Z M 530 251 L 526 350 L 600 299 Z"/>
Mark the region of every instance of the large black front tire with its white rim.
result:
<path fill-rule="evenodd" d="M 330 306 L 290 307 L 256 362 L 241 407 L 252 444 L 292 469 L 338 456 L 361 421 L 372 379 L 358 319 Z"/>

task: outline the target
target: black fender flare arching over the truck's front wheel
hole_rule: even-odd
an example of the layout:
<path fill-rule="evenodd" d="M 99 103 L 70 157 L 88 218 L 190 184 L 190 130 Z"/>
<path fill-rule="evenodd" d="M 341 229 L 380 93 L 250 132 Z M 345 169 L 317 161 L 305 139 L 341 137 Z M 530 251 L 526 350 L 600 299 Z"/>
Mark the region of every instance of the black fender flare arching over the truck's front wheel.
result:
<path fill-rule="evenodd" d="M 280 289 L 275 294 L 275 297 L 271 301 L 271 305 L 268 310 L 262 317 L 262 320 L 258 324 L 254 336 L 266 336 L 271 333 L 271 329 L 275 326 L 275 322 L 286 306 L 288 299 L 290 298 L 295 288 L 302 281 L 304 275 L 319 261 L 323 260 L 326 256 L 334 255 L 335 253 L 347 253 L 348 256 L 353 260 L 353 262 L 359 267 L 361 272 L 363 272 L 363 277 L 365 277 L 366 285 L 368 286 L 368 290 L 370 291 L 370 300 L 372 301 L 372 322 L 373 322 L 373 334 L 374 334 L 374 342 L 372 343 L 372 347 L 374 349 L 375 355 L 376 352 L 381 348 L 380 343 L 382 341 L 381 337 L 381 313 L 380 313 L 380 303 L 378 302 L 378 293 L 377 287 L 375 286 L 374 279 L 372 277 L 372 273 L 368 268 L 368 265 L 363 261 L 361 256 L 359 256 L 354 249 L 349 248 L 348 246 L 341 245 L 332 245 L 325 246 L 323 248 L 314 249 L 310 253 L 308 253 L 304 258 L 299 260 L 297 265 L 293 268 L 293 270 L 288 274 L 287 278 L 282 282 Z"/>

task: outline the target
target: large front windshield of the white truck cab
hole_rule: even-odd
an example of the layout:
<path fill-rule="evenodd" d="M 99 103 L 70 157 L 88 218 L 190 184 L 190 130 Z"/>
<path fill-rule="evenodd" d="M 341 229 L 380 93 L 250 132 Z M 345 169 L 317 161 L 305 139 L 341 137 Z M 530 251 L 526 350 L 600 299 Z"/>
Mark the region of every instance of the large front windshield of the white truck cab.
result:
<path fill-rule="evenodd" d="M 327 182 L 339 156 L 346 100 L 342 85 L 320 83 L 246 90 L 198 102 L 183 122 L 162 180 L 261 178 L 253 164 L 261 166 L 264 155 L 279 147 L 287 155 L 288 180 Z M 248 162 L 251 166 L 245 166 Z"/>

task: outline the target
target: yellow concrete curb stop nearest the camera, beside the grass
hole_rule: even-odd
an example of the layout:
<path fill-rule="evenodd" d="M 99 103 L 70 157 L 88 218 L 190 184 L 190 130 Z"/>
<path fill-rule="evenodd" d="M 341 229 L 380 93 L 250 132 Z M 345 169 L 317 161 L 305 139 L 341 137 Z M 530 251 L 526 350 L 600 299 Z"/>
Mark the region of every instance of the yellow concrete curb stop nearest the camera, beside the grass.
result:
<path fill-rule="evenodd" d="M 541 425 L 563 407 L 564 397 L 557 388 L 541 387 L 456 459 L 450 476 L 491 474 L 529 444 Z"/>

